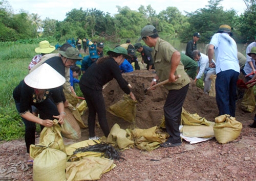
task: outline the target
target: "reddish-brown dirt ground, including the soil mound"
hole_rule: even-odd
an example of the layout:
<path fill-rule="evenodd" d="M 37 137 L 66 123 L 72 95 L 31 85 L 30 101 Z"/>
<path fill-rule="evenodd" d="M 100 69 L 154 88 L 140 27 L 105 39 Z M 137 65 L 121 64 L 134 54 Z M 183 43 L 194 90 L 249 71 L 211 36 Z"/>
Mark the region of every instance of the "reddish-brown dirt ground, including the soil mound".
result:
<path fill-rule="evenodd" d="M 160 124 L 163 117 L 163 105 L 167 91 L 161 86 L 156 90 L 144 89 L 150 85 L 155 76 L 153 71 L 136 70 L 123 74 L 123 77 L 132 85 L 132 91 L 138 100 L 136 112 L 136 126 L 149 128 Z M 144 87 L 143 87 L 144 84 Z M 115 80 L 111 81 L 103 90 L 105 106 L 115 104 L 123 96 Z M 190 82 L 189 90 L 183 105 L 191 113 L 198 113 L 209 121 L 215 121 L 218 108 L 214 97 L 203 93 Z M 83 119 L 87 123 L 87 112 Z M 117 166 L 101 177 L 106 180 L 256 180 L 256 129 L 250 128 L 253 122 L 252 113 L 240 109 L 240 100 L 237 101 L 236 119 L 243 124 L 240 137 L 227 144 L 219 144 L 211 139 L 198 144 L 189 144 L 183 141 L 182 145 L 173 148 L 158 148 L 151 152 L 137 148 L 125 150 L 123 162 L 114 162 Z M 109 112 L 106 114 L 110 127 L 118 123 L 121 128 L 131 124 Z M 97 136 L 103 136 L 100 128 L 96 128 Z M 65 144 L 88 139 L 88 130 L 82 130 L 79 140 L 64 138 Z M 38 138 L 36 139 L 38 142 Z M 24 140 L 3 142 L 0 145 L 0 180 L 32 180 L 32 168 L 26 166 L 28 155 Z M 159 161 L 151 161 L 151 159 Z"/>

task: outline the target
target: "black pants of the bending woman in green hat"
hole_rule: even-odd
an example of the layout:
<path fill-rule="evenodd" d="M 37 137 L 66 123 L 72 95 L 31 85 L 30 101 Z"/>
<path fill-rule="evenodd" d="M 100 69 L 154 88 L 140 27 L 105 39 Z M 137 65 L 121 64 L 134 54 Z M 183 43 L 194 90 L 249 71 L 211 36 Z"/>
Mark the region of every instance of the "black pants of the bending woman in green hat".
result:
<path fill-rule="evenodd" d="M 93 90 L 80 84 L 80 89 L 89 109 L 88 115 L 88 127 L 89 137 L 95 136 L 95 119 L 96 113 L 98 114 L 99 125 L 104 133 L 105 137 L 109 136 L 110 129 L 108 121 L 106 120 L 105 101 L 102 94 L 102 90 Z"/>

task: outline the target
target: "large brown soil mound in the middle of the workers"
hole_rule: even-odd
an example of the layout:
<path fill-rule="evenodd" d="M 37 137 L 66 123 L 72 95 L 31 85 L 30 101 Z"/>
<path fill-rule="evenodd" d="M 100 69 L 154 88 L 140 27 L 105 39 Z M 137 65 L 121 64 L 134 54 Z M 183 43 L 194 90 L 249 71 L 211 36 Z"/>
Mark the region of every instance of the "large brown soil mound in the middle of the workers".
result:
<path fill-rule="evenodd" d="M 168 91 L 159 86 L 155 90 L 148 90 L 145 94 L 144 90 L 150 86 L 155 77 L 155 71 L 136 70 L 130 73 L 124 73 L 124 79 L 132 85 L 132 91 L 137 98 L 136 110 L 136 126 L 139 128 L 150 128 L 160 124 L 163 117 L 163 106 Z M 122 99 L 124 92 L 119 87 L 116 80 L 112 80 L 103 90 L 105 98 L 105 106 L 109 108 L 117 101 Z M 205 117 L 209 121 L 215 121 L 218 116 L 218 108 L 215 97 L 210 97 L 203 93 L 203 90 L 196 87 L 193 80 L 189 85 L 189 90 L 183 108 L 191 113 L 198 113 L 201 117 Z M 107 113 L 110 127 L 118 123 L 121 128 L 127 128 L 130 123 L 121 118 Z"/>

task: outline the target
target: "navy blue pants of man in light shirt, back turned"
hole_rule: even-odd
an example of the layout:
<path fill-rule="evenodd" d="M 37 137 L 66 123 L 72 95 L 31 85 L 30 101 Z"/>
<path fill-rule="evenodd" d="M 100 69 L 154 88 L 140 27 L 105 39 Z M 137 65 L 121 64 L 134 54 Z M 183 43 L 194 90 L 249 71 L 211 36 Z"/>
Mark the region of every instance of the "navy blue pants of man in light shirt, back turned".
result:
<path fill-rule="evenodd" d="M 239 72 L 234 70 L 217 74 L 215 89 L 219 115 L 228 114 L 235 117 L 238 76 Z"/>

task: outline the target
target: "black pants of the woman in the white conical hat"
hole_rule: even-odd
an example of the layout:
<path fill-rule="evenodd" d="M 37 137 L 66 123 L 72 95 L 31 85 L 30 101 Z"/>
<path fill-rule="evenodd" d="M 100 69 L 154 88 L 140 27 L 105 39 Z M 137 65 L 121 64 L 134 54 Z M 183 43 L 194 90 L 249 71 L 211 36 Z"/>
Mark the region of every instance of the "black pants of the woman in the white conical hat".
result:
<path fill-rule="evenodd" d="M 15 100 L 15 105 L 16 105 L 16 109 L 19 112 L 20 103 L 17 100 Z M 53 120 L 54 119 L 53 116 L 59 115 L 56 105 L 50 98 L 42 101 L 39 104 L 35 104 L 33 106 L 35 106 L 38 109 L 39 116 L 41 119 Z M 31 108 L 31 110 L 32 110 L 32 108 Z M 32 113 L 32 111 L 31 111 L 31 113 Z M 22 117 L 22 120 L 25 124 L 25 142 L 26 142 L 27 152 L 29 153 L 30 145 L 35 144 L 36 125 L 35 125 L 35 122 L 28 121 L 27 119 L 24 119 L 23 117 Z M 42 130 L 44 128 L 44 126 L 40 125 L 40 128 Z"/>

